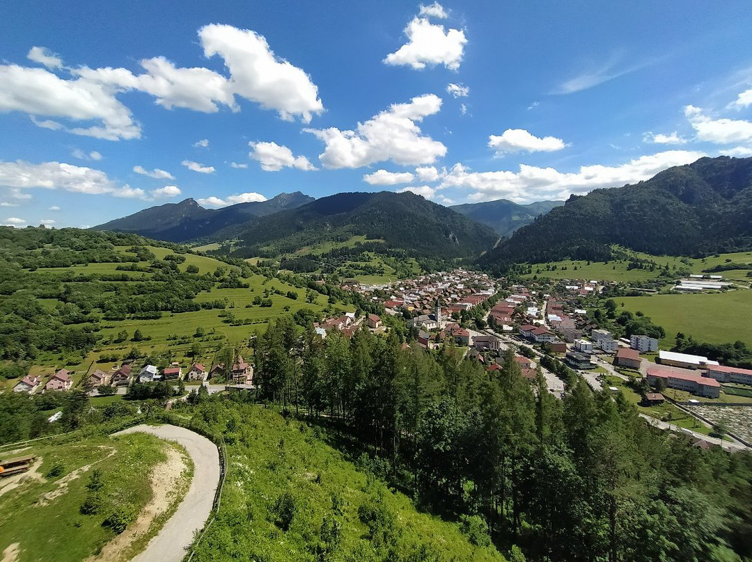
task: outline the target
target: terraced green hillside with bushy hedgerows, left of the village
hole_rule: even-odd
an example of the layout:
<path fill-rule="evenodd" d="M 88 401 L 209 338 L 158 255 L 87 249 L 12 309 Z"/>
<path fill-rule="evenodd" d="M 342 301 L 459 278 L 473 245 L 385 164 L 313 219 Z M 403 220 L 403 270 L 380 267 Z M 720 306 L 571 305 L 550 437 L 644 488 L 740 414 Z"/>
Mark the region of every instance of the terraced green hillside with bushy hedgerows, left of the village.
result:
<path fill-rule="evenodd" d="M 0 388 L 61 367 L 78 382 L 126 356 L 211 364 L 280 313 L 305 309 L 310 322 L 355 308 L 312 279 L 157 244 L 134 234 L 0 228 Z"/>

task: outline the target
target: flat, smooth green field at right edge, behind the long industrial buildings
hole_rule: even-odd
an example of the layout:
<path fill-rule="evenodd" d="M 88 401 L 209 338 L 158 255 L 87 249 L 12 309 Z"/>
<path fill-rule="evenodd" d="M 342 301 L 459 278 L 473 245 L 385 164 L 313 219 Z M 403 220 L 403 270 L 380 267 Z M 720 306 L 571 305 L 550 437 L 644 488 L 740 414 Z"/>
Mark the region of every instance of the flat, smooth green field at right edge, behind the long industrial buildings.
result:
<path fill-rule="evenodd" d="M 726 343 L 741 340 L 752 346 L 752 292 L 738 289 L 700 295 L 651 295 L 620 297 L 624 310 L 640 310 L 663 326 L 663 349 L 673 346 L 677 332 L 691 334 L 696 340 Z"/>

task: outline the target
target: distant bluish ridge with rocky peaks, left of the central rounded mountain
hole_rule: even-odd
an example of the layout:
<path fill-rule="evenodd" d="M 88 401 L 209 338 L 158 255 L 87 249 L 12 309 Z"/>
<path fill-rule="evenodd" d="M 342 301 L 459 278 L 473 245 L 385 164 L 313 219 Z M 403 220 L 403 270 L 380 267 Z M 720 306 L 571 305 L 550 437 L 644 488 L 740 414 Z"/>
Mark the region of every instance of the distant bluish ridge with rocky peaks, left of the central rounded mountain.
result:
<path fill-rule="evenodd" d="M 250 201 L 221 209 L 206 209 L 193 198 L 188 198 L 180 203 L 149 207 L 122 219 L 95 226 L 94 230 L 130 232 L 155 240 L 185 242 L 209 237 L 222 229 L 243 225 L 256 217 L 293 209 L 311 201 L 314 198 L 309 195 L 293 192 L 280 193 L 267 201 Z"/>

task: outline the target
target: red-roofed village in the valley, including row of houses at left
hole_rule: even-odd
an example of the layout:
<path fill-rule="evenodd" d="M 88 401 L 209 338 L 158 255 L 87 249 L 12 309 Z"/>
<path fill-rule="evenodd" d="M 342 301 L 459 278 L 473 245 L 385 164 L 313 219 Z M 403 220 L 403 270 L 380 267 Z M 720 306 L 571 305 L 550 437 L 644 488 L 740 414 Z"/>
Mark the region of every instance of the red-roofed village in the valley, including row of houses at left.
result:
<path fill-rule="evenodd" d="M 513 349 L 522 376 L 535 382 L 540 372 L 547 390 L 559 398 L 566 391 L 566 376 L 556 372 L 556 364 L 580 373 L 593 390 L 615 393 L 628 386 L 638 388 L 640 406 L 670 401 L 687 412 L 717 402 L 723 388 L 732 392 L 735 385 L 752 386 L 752 370 L 659 349 L 659 340 L 645 334 L 619 337 L 599 328 L 582 303 L 597 302 L 604 287 L 594 280 L 564 280 L 543 292 L 536 283 L 510 285 L 505 279 L 463 269 L 381 285 L 347 285 L 381 304 L 387 316 L 403 320 L 411 330 L 412 345 L 431 351 L 454 346 L 490 372 L 501 369 L 505 354 Z M 344 312 L 314 322 L 312 328 L 322 339 L 332 331 L 349 339 L 361 329 L 384 334 L 388 324 L 373 313 Z M 407 349 L 408 343 L 403 347 Z M 25 376 L 13 390 L 29 394 L 70 390 L 71 375 L 60 368 L 46 380 Z M 254 388 L 253 361 L 241 355 L 228 366 L 173 362 L 159 369 L 154 364 L 137 368 L 124 362 L 106 371 L 96 368 L 83 380 L 92 395 L 125 394 L 132 382 L 184 381 L 206 385 L 213 392 Z M 672 397 L 666 391 L 672 391 Z"/>

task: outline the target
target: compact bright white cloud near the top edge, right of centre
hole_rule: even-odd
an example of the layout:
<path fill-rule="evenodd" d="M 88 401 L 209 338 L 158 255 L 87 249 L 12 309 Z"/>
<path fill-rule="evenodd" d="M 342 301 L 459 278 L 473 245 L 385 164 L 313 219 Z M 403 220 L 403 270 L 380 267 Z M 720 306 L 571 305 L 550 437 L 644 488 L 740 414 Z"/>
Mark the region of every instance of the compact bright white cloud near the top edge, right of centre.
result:
<path fill-rule="evenodd" d="M 426 17 L 415 17 L 405 28 L 405 35 L 408 42 L 388 54 L 385 64 L 410 66 L 416 70 L 426 65 L 444 65 L 450 70 L 459 68 L 468 41 L 462 29 L 444 31 L 444 26 L 431 23 Z"/>

